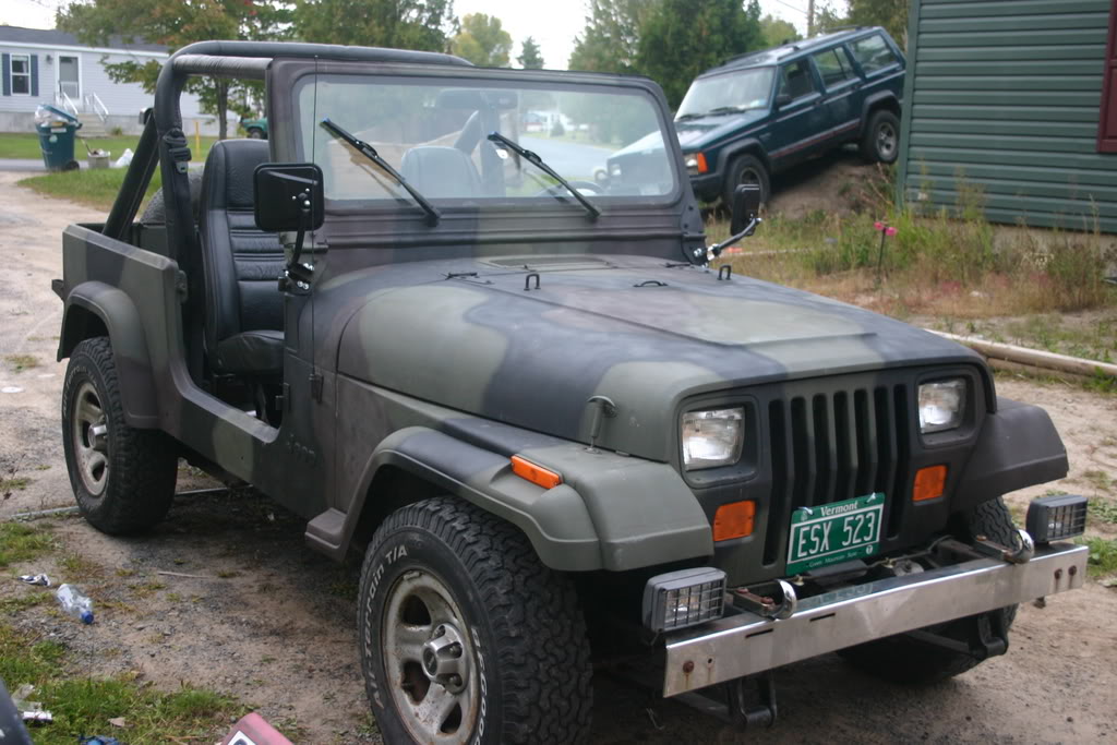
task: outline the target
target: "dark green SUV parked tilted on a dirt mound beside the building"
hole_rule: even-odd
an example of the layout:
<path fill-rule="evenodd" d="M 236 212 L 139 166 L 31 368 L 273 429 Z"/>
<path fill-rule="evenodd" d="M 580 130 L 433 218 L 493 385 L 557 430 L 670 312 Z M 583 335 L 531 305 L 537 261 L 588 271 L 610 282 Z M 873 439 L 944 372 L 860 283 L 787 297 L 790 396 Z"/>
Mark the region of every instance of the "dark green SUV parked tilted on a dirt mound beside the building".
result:
<path fill-rule="evenodd" d="M 729 203 L 742 183 L 770 176 L 849 142 L 870 161 L 899 153 L 903 52 L 879 27 L 859 28 L 734 57 L 690 84 L 675 115 L 690 185 Z M 646 139 L 647 140 L 647 139 Z M 650 142 L 615 153 L 610 180 L 642 178 Z"/>

